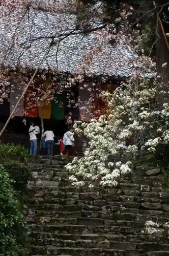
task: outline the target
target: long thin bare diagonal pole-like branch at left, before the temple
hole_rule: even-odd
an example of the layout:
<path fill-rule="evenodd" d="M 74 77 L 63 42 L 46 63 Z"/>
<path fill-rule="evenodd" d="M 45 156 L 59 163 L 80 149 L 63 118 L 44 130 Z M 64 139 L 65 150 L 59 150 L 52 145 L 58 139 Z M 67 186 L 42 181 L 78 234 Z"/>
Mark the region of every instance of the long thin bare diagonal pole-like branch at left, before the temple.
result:
<path fill-rule="evenodd" d="M 49 44 L 47 50 L 45 51 L 45 53 L 44 53 L 44 55 L 43 55 L 43 58 L 42 58 L 41 61 L 39 62 L 39 65 L 38 65 L 38 67 L 36 68 L 36 70 L 35 70 L 33 76 L 31 77 L 31 80 L 29 81 L 29 83 L 27 83 L 27 86 L 25 87 L 25 89 L 24 89 L 22 95 L 20 96 L 20 98 L 18 99 L 18 102 L 16 103 L 16 105 L 15 105 L 15 107 L 14 107 L 12 113 L 10 114 L 8 120 L 6 121 L 6 123 L 5 123 L 5 125 L 4 125 L 4 127 L 3 127 L 3 129 L 2 129 L 2 131 L 1 131 L 1 133 L 0 133 L 0 137 L 2 136 L 3 132 L 5 131 L 5 129 L 6 129 L 7 125 L 8 125 L 8 123 L 9 123 L 9 121 L 11 120 L 13 114 L 15 113 L 15 111 L 16 111 L 16 109 L 17 109 L 19 103 L 20 103 L 20 101 L 21 101 L 22 98 L 24 97 L 24 95 L 25 95 L 27 89 L 29 88 L 30 84 L 32 83 L 34 77 L 36 76 L 36 74 L 37 74 L 37 72 L 38 72 L 38 70 L 39 70 L 39 68 L 40 68 L 40 66 L 41 66 L 41 64 L 42 64 L 42 62 L 43 62 L 43 60 L 45 59 L 45 57 L 46 57 L 47 54 L 49 53 L 50 48 L 52 47 L 52 45 L 53 45 L 53 39 L 51 40 L 51 42 L 50 42 L 50 44 Z"/>

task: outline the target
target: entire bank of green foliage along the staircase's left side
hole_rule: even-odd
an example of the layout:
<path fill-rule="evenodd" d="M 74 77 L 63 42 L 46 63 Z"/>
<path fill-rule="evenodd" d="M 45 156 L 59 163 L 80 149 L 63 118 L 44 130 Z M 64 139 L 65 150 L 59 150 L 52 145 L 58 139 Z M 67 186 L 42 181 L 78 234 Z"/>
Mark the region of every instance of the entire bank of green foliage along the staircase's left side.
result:
<path fill-rule="evenodd" d="M 25 188 L 31 177 L 28 158 L 24 147 L 0 144 L 0 255 L 29 254 L 22 214 Z"/>

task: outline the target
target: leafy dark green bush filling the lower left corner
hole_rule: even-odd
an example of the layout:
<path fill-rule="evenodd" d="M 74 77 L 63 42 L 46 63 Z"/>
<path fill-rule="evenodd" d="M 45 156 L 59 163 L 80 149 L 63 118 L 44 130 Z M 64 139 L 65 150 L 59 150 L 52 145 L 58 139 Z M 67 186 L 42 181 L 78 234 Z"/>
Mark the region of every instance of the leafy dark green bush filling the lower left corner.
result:
<path fill-rule="evenodd" d="M 0 255 L 3 256 L 26 255 L 24 244 L 28 229 L 13 183 L 0 164 Z"/>

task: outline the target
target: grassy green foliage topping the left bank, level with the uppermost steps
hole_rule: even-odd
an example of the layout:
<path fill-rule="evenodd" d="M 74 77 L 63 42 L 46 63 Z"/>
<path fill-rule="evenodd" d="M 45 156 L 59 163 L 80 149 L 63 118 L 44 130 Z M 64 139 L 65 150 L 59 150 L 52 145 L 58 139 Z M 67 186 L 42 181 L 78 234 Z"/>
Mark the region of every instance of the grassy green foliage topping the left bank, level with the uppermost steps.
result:
<path fill-rule="evenodd" d="M 20 161 L 27 161 L 29 159 L 29 151 L 21 146 L 15 144 L 4 144 L 0 143 L 0 159 L 15 159 Z"/>

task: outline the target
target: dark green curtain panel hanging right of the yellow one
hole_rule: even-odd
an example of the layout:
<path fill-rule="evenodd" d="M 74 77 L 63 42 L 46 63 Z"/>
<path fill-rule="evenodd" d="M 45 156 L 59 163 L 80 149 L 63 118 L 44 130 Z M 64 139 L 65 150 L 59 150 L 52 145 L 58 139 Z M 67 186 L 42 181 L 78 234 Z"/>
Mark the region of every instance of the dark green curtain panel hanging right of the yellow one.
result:
<path fill-rule="evenodd" d="M 53 119 L 63 120 L 65 117 L 66 97 L 63 94 L 58 94 L 51 101 L 51 112 Z"/>

